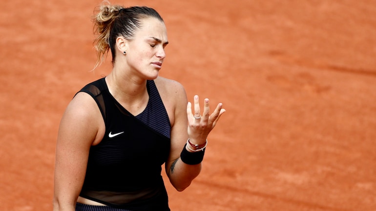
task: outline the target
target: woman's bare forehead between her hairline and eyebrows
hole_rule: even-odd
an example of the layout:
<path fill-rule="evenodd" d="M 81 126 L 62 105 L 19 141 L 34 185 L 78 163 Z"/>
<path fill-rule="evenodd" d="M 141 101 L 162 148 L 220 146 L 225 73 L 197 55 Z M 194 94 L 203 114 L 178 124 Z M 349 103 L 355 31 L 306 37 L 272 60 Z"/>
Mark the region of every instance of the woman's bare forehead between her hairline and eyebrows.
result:
<path fill-rule="evenodd" d="M 141 27 L 136 31 L 135 37 L 154 37 L 167 41 L 166 25 L 156 18 L 141 19 Z"/>

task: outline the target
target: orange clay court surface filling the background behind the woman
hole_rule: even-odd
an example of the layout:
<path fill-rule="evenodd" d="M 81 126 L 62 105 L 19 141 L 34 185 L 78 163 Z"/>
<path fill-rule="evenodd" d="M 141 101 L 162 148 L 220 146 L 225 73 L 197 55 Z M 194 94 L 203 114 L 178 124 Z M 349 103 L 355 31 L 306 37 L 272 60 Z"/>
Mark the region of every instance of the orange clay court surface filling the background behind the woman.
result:
<path fill-rule="evenodd" d="M 101 1 L 1 1 L 1 211 L 52 210 L 60 118 L 111 68 L 90 72 Z M 227 110 L 172 211 L 376 211 L 376 1 L 111 3 L 159 11 L 160 75 Z"/>

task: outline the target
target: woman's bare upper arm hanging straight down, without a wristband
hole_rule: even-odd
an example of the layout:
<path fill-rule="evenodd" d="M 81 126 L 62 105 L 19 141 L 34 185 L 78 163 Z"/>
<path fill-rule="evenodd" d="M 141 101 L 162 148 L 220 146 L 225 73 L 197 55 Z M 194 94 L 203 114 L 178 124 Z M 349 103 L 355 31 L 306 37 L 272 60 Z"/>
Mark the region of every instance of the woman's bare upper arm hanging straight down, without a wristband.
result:
<path fill-rule="evenodd" d="M 77 200 L 90 146 L 98 139 L 101 117 L 94 99 L 85 93 L 78 93 L 63 114 L 55 161 L 54 194 L 59 204 L 72 204 Z"/>

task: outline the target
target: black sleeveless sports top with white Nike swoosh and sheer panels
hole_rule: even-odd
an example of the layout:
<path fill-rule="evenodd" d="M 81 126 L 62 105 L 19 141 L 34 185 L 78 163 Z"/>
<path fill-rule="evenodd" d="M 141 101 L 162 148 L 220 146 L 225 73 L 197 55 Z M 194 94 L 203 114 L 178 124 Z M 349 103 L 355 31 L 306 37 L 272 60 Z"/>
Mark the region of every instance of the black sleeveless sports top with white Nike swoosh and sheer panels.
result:
<path fill-rule="evenodd" d="M 80 91 L 94 98 L 105 123 L 102 141 L 90 147 L 80 196 L 131 211 L 169 211 L 161 166 L 169 154 L 171 126 L 154 81 L 146 88 L 149 101 L 137 116 L 109 93 L 104 78 Z"/>

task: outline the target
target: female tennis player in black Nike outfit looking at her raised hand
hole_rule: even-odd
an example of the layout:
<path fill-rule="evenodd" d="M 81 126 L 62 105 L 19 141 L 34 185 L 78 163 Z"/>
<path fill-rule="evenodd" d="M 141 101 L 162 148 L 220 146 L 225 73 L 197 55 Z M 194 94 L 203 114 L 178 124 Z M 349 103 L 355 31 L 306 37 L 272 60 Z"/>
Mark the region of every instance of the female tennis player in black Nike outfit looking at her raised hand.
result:
<path fill-rule="evenodd" d="M 94 25 L 97 65 L 110 51 L 113 68 L 63 114 L 54 211 L 169 211 L 162 165 L 185 190 L 225 109 L 219 103 L 210 113 L 206 98 L 201 111 L 198 96 L 191 104 L 180 83 L 158 76 L 168 39 L 154 9 L 103 4 Z"/>

